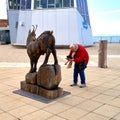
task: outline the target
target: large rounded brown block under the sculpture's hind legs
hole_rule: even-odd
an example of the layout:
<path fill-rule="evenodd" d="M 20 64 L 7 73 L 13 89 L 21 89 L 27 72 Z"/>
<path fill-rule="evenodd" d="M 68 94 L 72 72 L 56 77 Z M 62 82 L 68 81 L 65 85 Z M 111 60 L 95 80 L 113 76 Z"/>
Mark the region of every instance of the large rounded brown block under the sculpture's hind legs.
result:
<path fill-rule="evenodd" d="M 61 68 L 59 65 L 42 66 L 38 70 L 37 84 L 46 89 L 55 89 L 61 81 Z"/>

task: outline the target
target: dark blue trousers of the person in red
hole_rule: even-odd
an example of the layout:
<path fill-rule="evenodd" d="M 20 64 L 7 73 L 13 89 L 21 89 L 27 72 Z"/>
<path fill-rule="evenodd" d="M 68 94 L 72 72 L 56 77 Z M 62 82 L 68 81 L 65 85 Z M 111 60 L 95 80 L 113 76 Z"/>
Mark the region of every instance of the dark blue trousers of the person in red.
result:
<path fill-rule="evenodd" d="M 80 76 L 81 79 L 81 84 L 85 84 L 85 69 L 77 69 L 74 66 L 74 74 L 73 74 L 73 82 L 77 84 L 78 82 L 78 74 Z"/>

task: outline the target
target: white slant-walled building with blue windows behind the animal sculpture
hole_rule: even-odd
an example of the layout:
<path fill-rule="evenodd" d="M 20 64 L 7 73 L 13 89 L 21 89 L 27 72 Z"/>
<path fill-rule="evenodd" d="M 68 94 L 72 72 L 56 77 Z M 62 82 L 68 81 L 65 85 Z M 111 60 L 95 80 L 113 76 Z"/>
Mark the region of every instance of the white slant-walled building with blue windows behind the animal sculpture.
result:
<path fill-rule="evenodd" d="M 25 45 L 28 31 L 38 25 L 36 35 L 53 30 L 56 45 L 92 45 L 87 0 L 8 0 L 10 39 Z"/>

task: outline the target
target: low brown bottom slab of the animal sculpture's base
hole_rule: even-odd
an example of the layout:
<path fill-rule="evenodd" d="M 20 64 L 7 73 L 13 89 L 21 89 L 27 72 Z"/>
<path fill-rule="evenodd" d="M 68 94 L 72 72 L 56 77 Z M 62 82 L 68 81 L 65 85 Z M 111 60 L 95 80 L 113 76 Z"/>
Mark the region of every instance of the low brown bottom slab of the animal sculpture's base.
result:
<path fill-rule="evenodd" d="M 26 83 L 26 81 L 21 81 L 21 89 L 49 99 L 57 98 L 63 94 L 63 89 L 60 87 L 48 90 L 37 85 Z"/>

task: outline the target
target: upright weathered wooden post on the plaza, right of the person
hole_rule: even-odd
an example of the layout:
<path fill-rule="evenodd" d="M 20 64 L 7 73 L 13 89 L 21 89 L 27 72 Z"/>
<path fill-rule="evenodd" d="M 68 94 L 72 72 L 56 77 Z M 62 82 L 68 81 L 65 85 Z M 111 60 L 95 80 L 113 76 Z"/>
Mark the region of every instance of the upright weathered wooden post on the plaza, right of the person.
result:
<path fill-rule="evenodd" d="M 98 67 L 107 68 L 107 40 L 100 40 L 98 53 Z"/>

